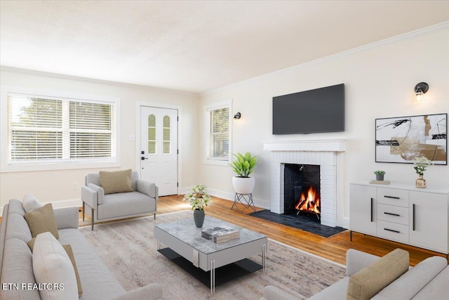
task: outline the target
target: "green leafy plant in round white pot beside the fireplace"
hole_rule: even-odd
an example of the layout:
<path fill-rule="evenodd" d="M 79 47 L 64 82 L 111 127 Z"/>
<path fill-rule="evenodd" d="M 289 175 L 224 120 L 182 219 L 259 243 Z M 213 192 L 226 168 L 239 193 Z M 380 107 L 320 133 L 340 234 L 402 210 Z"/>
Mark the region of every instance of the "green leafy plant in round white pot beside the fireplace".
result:
<path fill-rule="evenodd" d="M 232 178 L 232 186 L 237 194 L 248 195 L 253 193 L 255 179 L 249 175 L 253 173 L 255 166 L 259 162 L 256 156 L 252 156 L 250 152 L 245 155 L 241 153 L 233 154 L 234 160 L 230 166 L 236 172 L 237 176 Z"/>

